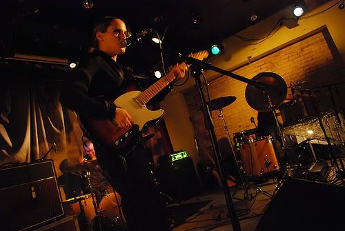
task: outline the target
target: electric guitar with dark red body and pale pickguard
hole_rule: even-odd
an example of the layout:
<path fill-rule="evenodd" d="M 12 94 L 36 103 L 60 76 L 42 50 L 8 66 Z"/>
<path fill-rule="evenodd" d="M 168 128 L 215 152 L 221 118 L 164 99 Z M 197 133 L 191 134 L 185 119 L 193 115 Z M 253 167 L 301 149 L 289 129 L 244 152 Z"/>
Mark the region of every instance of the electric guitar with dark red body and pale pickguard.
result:
<path fill-rule="evenodd" d="M 206 59 L 208 57 L 207 51 L 200 51 L 195 54 L 190 54 L 189 57 L 195 59 Z M 186 65 L 185 63 L 179 65 Z M 82 121 L 83 129 L 87 130 L 93 139 L 107 147 L 116 148 L 126 151 L 131 147 L 135 147 L 139 140 L 141 130 L 150 121 L 157 121 L 163 117 L 164 110 L 148 110 L 146 103 L 150 101 L 156 94 L 163 90 L 176 77 L 172 75 L 168 77 L 161 77 L 159 81 L 155 82 L 144 90 L 130 91 L 121 94 L 115 99 L 114 103 L 117 107 L 123 108 L 132 116 L 132 125 L 126 128 L 119 128 L 115 121 L 110 119 L 88 119 Z"/>

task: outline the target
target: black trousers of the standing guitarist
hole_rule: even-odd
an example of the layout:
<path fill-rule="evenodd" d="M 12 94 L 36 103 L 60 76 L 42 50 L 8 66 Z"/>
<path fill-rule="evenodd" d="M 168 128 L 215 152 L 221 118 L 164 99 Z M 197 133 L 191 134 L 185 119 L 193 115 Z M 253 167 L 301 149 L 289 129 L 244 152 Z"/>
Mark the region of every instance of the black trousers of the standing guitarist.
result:
<path fill-rule="evenodd" d="M 121 196 L 128 230 L 170 230 L 165 205 L 144 152 L 139 143 L 126 155 L 124 163 L 119 154 L 96 147 L 105 177 Z"/>

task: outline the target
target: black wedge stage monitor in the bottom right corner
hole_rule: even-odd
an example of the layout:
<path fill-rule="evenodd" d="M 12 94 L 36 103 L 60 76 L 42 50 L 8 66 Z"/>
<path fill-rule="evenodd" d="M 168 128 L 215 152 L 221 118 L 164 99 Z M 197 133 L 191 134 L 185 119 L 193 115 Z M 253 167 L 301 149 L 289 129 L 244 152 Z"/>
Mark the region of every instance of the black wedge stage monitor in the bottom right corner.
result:
<path fill-rule="evenodd" d="M 286 179 L 255 231 L 345 230 L 345 188 Z"/>

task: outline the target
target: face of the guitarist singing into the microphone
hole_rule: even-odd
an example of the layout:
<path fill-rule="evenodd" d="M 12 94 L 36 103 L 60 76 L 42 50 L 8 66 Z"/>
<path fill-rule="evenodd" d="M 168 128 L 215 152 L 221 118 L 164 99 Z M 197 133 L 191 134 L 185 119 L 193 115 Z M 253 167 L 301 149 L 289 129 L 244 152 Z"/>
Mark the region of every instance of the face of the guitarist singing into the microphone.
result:
<path fill-rule="evenodd" d="M 126 51 L 126 46 L 121 41 L 127 38 L 127 29 L 121 19 L 112 20 L 106 32 L 97 32 L 96 37 L 99 41 L 99 50 L 112 57 L 124 54 Z"/>

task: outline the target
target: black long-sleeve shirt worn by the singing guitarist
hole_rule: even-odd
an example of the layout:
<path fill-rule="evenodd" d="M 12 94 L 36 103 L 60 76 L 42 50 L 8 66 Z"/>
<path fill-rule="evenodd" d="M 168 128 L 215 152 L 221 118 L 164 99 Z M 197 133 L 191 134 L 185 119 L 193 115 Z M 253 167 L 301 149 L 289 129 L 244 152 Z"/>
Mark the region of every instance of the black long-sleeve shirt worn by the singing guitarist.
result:
<path fill-rule="evenodd" d="M 113 119 L 112 103 L 125 79 L 124 70 L 110 55 L 100 50 L 90 53 L 74 71 L 61 101 L 82 118 Z"/>

